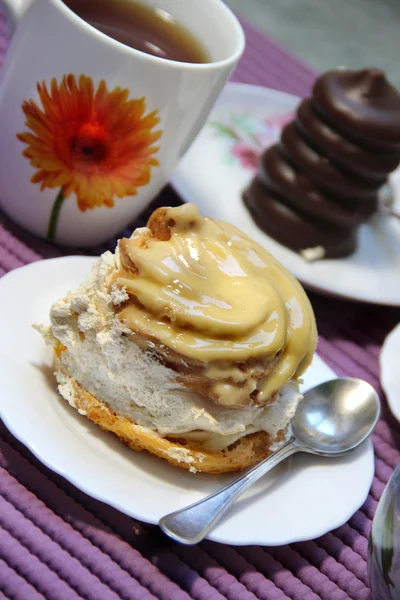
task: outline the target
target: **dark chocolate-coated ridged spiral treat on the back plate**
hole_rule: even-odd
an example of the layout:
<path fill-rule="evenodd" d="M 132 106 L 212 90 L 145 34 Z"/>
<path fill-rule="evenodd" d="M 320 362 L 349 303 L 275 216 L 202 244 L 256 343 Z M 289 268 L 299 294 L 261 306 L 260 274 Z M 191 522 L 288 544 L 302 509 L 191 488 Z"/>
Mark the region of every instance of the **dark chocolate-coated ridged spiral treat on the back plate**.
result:
<path fill-rule="evenodd" d="M 256 223 L 306 258 L 352 254 L 400 162 L 400 93 L 379 69 L 319 77 L 244 201 Z"/>

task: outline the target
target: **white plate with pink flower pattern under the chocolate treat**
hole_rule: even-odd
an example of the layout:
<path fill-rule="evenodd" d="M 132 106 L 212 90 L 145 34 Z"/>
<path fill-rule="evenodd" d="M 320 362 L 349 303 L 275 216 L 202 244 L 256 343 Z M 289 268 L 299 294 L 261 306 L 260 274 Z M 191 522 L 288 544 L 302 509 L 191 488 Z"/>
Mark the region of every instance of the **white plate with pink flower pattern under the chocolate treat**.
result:
<path fill-rule="evenodd" d="M 245 208 L 241 195 L 255 171 L 243 163 L 254 164 L 257 152 L 278 139 L 282 124 L 292 116 L 298 102 L 296 96 L 275 90 L 228 84 L 172 183 L 183 198 L 196 202 L 203 214 L 229 221 L 265 246 L 305 286 L 345 298 L 400 306 L 400 221 L 375 217 L 361 227 L 355 254 L 307 263 L 263 233 Z M 254 155 L 256 147 L 259 149 Z M 392 181 L 397 191 L 400 172 Z"/>

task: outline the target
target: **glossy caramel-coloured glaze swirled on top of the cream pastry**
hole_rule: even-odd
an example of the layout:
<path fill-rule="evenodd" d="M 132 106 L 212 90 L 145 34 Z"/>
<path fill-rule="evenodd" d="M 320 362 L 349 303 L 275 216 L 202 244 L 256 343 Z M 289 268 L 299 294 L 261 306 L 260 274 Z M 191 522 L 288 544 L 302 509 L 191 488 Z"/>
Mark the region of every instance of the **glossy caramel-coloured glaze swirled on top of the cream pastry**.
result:
<path fill-rule="evenodd" d="M 120 320 L 201 365 L 217 403 L 265 404 L 309 366 L 316 325 L 303 288 L 232 225 L 193 204 L 158 209 L 120 240 L 119 256 L 110 286 L 129 295 Z"/>

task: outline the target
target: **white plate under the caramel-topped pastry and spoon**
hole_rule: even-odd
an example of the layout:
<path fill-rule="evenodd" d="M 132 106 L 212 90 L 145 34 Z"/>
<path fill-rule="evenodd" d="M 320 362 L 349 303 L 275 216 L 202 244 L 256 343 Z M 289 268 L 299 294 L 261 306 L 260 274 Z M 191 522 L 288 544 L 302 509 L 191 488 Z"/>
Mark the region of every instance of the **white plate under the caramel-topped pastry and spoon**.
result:
<path fill-rule="evenodd" d="M 79 489 L 127 515 L 157 523 L 232 476 L 193 475 L 133 452 L 59 397 L 52 352 L 31 325 L 48 322 L 51 304 L 82 282 L 93 260 L 41 261 L 0 280 L 0 414 L 45 465 Z M 305 387 L 334 376 L 316 357 Z M 278 545 L 318 537 L 345 523 L 363 504 L 373 473 L 370 441 L 340 460 L 295 457 L 241 499 L 210 538 Z"/>

